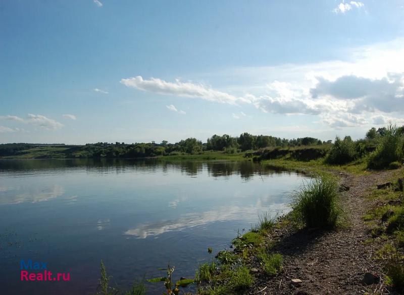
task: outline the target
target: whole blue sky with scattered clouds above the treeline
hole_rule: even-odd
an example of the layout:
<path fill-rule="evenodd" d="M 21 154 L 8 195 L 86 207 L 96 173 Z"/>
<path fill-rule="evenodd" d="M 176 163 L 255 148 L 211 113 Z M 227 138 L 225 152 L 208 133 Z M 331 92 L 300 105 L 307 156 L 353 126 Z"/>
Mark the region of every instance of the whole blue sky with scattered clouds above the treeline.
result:
<path fill-rule="evenodd" d="M 4 0 L 0 143 L 404 124 L 404 1 Z"/>

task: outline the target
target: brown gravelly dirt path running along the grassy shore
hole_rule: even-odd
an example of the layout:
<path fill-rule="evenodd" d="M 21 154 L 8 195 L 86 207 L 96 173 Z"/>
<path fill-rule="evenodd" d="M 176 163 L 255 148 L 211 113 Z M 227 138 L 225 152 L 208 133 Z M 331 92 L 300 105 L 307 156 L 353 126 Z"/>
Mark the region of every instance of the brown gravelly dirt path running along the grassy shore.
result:
<path fill-rule="evenodd" d="M 350 187 L 342 203 L 351 228 L 281 235 L 274 250 L 283 254 L 283 272 L 274 278 L 259 274 L 250 294 L 363 294 L 378 289 L 380 285 L 361 283 L 367 271 L 381 273 L 381 266 L 372 259 L 376 247 L 363 244 L 371 236 L 361 217 L 371 206 L 366 194 L 390 174 L 388 171 L 369 175 L 339 173 L 342 183 Z M 293 285 L 294 278 L 302 283 Z"/>

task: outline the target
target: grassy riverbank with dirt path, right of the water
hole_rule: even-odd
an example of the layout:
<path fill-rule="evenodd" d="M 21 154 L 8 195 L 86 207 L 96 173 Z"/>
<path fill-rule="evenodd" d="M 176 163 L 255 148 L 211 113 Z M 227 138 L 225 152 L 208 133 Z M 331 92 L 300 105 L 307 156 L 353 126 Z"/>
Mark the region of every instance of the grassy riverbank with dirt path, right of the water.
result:
<path fill-rule="evenodd" d="M 361 162 L 329 166 L 321 160 L 278 159 L 263 164 L 337 176 L 344 191 L 340 205 L 345 222 L 332 230 L 306 228 L 293 224 L 291 213 L 265 230 L 261 224 L 256 233 L 233 241 L 234 252 L 219 253 L 219 272 L 205 280 L 210 281 L 209 287 L 201 284 L 200 294 L 400 293 L 402 228 L 388 228 L 402 214 L 402 192 L 396 188 L 397 179 L 404 176 L 402 168 L 372 171 Z M 391 187 L 377 189 L 385 183 Z M 274 255 L 278 255 L 277 264 Z M 272 265 L 270 271 L 268 265 Z M 236 274 L 240 267 L 245 268 L 242 276 Z M 243 287 L 236 289 L 234 284 Z"/>

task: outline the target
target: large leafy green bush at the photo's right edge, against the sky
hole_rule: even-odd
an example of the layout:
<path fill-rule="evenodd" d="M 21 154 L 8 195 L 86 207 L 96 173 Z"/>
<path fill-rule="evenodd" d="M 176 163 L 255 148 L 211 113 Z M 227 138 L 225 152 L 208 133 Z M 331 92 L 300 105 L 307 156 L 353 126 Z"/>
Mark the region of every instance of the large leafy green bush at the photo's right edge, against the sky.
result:
<path fill-rule="evenodd" d="M 404 154 L 403 144 L 403 136 L 399 129 L 393 125 L 388 126 L 381 143 L 369 155 L 368 167 L 381 169 L 387 167 L 391 162 L 401 161 Z"/>

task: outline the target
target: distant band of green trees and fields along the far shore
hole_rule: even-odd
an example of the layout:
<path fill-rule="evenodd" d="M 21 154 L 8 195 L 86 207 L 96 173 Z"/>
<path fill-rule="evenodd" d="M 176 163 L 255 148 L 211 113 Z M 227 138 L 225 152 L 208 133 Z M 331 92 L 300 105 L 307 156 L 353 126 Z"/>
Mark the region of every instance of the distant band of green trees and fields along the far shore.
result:
<path fill-rule="evenodd" d="M 175 144 L 163 140 L 151 143 L 108 143 L 98 142 L 86 145 L 64 144 L 0 144 L 1 158 L 143 158 L 157 156 L 200 155 L 209 151 L 222 155 L 238 154 L 241 151 L 265 147 L 286 147 L 302 144 L 323 144 L 315 138 L 281 139 L 266 135 L 243 133 L 239 137 L 214 135 L 202 143 L 195 138 L 180 140 Z"/>

